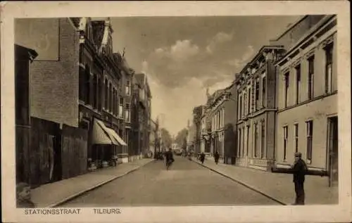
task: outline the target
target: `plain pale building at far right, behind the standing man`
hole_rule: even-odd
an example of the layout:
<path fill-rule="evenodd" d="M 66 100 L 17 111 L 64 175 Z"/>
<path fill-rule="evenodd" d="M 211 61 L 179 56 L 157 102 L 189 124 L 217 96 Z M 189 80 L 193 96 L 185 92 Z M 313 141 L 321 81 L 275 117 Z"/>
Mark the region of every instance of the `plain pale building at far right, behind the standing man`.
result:
<path fill-rule="evenodd" d="M 284 57 L 277 62 L 277 167 L 294 162 L 301 152 L 308 169 L 338 181 L 337 17 L 306 16 L 308 23 Z M 288 38 L 294 27 L 281 39 Z M 277 42 L 282 41 L 277 39 Z M 284 42 L 284 41 L 282 41 Z"/>

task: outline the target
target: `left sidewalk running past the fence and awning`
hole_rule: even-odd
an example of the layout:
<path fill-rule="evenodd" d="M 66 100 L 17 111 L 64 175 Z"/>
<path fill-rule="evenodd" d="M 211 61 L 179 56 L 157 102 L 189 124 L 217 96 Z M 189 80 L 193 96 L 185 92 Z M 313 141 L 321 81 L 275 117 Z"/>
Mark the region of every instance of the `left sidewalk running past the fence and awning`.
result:
<path fill-rule="evenodd" d="M 134 170 L 138 170 L 139 167 L 152 161 L 153 159 L 144 158 L 132 163 L 120 164 L 117 168 L 108 167 L 70 179 L 44 184 L 36 189 L 32 189 L 32 201 L 37 205 L 37 208 L 54 208 L 65 201 L 80 196 L 82 193 L 91 191 L 98 186 L 123 177 Z"/>

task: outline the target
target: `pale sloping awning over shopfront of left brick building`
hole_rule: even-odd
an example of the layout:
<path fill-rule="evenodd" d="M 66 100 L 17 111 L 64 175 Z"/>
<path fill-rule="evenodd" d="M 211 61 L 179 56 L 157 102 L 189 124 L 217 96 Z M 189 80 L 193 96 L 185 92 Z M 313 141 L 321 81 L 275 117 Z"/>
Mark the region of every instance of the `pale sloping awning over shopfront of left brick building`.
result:
<path fill-rule="evenodd" d="M 125 141 L 123 141 L 113 129 L 106 127 L 104 122 L 96 119 L 94 119 L 93 124 L 92 143 L 127 146 Z"/>

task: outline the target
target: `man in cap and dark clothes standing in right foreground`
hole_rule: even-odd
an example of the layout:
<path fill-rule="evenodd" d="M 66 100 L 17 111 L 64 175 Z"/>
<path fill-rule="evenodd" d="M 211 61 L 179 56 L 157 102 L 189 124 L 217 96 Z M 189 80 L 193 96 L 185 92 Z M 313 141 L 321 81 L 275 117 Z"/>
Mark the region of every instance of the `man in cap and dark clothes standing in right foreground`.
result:
<path fill-rule="evenodd" d="M 294 165 L 291 171 L 294 174 L 294 191 L 296 192 L 296 200 L 293 205 L 304 205 L 304 179 L 307 172 L 306 162 L 302 160 L 302 153 L 294 153 Z"/>

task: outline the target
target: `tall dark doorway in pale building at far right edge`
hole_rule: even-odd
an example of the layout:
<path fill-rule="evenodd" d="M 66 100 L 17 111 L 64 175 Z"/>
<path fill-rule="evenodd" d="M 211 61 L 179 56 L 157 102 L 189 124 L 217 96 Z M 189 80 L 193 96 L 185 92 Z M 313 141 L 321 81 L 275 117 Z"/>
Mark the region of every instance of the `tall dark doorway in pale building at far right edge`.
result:
<path fill-rule="evenodd" d="M 328 149 L 329 149 L 329 186 L 339 184 L 339 144 L 337 117 L 328 119 Z"/>

